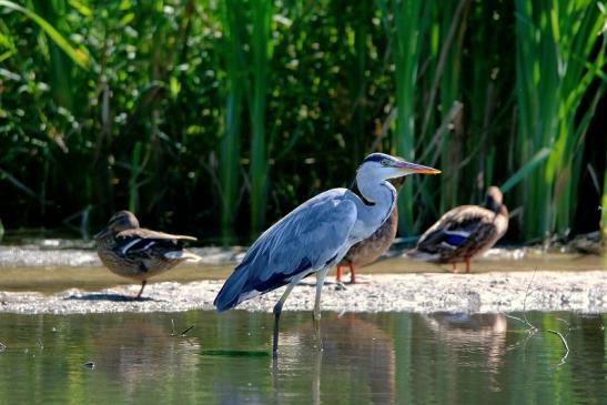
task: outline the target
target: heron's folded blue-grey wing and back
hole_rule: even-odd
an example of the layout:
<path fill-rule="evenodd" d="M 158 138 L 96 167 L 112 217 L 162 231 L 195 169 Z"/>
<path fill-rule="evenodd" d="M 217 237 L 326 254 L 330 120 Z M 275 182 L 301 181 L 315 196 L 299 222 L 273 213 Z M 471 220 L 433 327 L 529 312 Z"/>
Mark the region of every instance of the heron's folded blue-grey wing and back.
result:
<path fill-rule="evenodd" d="M 225 281 L 219 311 L 289 284 L 344 254 L 356 222 L 356 205 L 342 189 L 306 201 L 265 231 Z"/>

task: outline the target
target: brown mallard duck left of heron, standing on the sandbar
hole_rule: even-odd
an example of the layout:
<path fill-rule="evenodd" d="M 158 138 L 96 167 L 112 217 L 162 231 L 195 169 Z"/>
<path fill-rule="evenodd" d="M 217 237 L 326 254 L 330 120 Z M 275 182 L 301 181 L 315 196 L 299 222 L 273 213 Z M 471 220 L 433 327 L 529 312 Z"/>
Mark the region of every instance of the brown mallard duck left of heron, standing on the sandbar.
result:
<path fill-rule="evenodd" d="M 141 281 L 141 297 L 148 279 L 174 267 L 183 261 L 201 257 L 183 249 L 182 241 L 193 236 L 171 235 L 139 227 L 139 221 L 129 211 L 119 211 L 108 226 L 94 235 L 97 252 L 103 264 L 113 273 Z"/>

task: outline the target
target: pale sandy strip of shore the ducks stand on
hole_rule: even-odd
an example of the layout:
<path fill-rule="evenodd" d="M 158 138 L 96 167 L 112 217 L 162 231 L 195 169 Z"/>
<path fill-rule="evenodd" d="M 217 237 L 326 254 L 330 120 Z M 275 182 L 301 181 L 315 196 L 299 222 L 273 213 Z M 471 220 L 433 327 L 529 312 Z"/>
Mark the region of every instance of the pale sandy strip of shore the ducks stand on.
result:
<path fill-rule="evenodd" d="M 488 272 L 483 274 L 374 274 L 365 283 L 323 288 L 323 311 L 335 312 L 607 312 L 607 271 Z M 533 281 L 532 281 L 533 279 Z M 54 294 L 0 292 L 0 312 L 79 314 L 213 310 L 222 281 L 162 282 L 146 286 L 143 301 L 132 301 L 139 285 L 99 292 L 67 290 Z M 311 311 L 314 280 L 293 290 L 285 311 Z M 282 288 L 242 303 L 239 308 L 271 312 Z M 527 297 L 526 297 L 527 296 Z"/>

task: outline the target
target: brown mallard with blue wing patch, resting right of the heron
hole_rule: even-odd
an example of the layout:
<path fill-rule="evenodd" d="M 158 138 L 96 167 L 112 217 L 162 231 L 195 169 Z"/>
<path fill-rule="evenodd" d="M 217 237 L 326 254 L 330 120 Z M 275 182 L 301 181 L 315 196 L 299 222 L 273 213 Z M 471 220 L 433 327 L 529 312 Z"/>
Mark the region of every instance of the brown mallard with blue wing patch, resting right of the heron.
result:
<path fill-rule="evenodd" d="M 448 211 L 407 254 L 426 262 L 452 263 L 454 271 L 457 262 L 465 262 L 469 273 L 472 257 L 489 250 L 508 230 L 508 210 L 502 199 L 499 189 L 490 186 L 486 207 L 462 205 Z"/>

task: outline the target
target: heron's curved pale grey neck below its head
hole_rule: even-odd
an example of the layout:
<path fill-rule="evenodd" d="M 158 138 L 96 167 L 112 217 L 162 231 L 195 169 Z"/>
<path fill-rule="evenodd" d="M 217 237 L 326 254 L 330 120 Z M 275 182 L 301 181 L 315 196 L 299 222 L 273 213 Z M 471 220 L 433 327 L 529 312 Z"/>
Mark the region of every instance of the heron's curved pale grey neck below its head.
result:
<path fill-rule="evenodd" d="M 387 220 L 396 203 L 396 190 L 385 180 L 356 176 L 362 195 L 357 199 L 358 221 L 355 233 L 362 239 L 371 236 Z"/>

